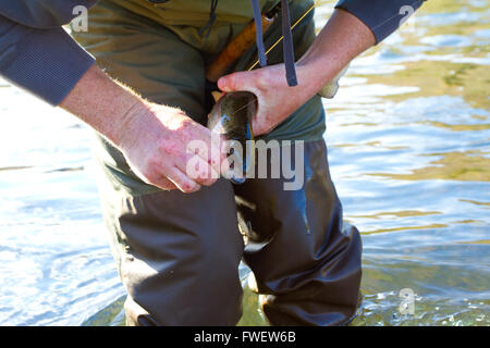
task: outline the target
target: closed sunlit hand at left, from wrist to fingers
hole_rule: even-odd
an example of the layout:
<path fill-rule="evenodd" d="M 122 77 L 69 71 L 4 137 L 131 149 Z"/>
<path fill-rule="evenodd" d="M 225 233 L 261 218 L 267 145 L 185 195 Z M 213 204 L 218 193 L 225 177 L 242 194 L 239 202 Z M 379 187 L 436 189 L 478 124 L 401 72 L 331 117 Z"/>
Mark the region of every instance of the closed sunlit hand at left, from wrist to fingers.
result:
<path fill-rule="evenodd" d="M 215 184 L 224 159 L 218 145 L 212 144 L 210 130 L 179 109 L 138 105 L 126 115 L 128 120 L 117 140 L 133 172 L 147 184 L 186 194 L 200 185 Z M 193 140 L 203 141 L 206 151 L 189 153 L 187 147 Z"/>

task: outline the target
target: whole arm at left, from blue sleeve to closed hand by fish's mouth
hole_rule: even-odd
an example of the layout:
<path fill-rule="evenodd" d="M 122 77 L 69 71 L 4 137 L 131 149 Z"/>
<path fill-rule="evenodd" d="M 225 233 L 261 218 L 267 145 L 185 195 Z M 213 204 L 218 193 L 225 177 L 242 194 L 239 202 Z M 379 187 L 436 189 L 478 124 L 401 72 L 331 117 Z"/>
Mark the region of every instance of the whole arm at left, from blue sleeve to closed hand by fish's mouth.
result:
<path fill-rule="evenodd" d="M 0 75 L 97 129 L 146 183 L 184 192 L 211 185 L 220 172 L 220 151 L 210 132 L 181 110 L 148 102 L 111 79 L 61 27 L 75 4 L 95 2 L 0 1 Z M 208 151 L 188 153 L 192 140 Z M 188 171 L 191 159 L 196 167 Z"/>

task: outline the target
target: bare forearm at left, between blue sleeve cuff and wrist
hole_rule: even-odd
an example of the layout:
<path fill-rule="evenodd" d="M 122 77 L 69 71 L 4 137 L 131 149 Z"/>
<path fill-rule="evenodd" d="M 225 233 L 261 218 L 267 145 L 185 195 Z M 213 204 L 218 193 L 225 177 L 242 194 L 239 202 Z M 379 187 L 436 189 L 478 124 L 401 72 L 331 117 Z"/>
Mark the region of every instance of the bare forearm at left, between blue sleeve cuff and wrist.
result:
<path fill-rule="evenodd" d="M 79 79 L 61 108 L 76 115 L 115 146 L 131 127 L 134 114 L 143 114 L 146 102 L 94 65 Z"/>

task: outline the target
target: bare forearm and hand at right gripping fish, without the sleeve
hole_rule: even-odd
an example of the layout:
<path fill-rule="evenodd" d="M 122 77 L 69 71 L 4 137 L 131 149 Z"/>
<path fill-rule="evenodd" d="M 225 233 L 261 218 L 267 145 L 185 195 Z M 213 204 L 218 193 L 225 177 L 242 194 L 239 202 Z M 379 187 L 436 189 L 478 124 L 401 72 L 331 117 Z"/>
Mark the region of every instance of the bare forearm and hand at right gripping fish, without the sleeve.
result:
<path fill-rule="evenodd" d="M 334 78 L 352 59 L 376 44 L 356 16 L 335 10 L 315 42 L 296 64 L 298 86 L 289 87 L 284 64 L 221 77 L 222 91 L 248 90 L 258 98 L 254 134 L 269 133 Z"/>

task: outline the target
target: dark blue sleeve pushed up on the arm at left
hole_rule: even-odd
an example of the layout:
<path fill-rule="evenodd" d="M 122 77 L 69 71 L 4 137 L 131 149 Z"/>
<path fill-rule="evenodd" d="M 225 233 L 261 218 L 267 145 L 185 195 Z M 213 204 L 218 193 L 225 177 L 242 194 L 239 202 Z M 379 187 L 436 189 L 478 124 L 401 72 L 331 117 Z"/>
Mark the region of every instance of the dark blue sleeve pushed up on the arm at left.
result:
<path fill-rule="evenodd" d="M 29 9 L 21 10 L 0 9 L 0 75 L 58 105 L 95 59 L 57 26 L 72 18 L 68 13 L 33 16 Z M 30 18 L 32 26 L 27 25 Z"/>

